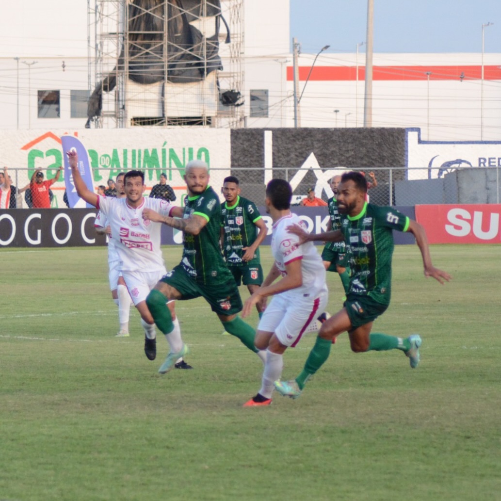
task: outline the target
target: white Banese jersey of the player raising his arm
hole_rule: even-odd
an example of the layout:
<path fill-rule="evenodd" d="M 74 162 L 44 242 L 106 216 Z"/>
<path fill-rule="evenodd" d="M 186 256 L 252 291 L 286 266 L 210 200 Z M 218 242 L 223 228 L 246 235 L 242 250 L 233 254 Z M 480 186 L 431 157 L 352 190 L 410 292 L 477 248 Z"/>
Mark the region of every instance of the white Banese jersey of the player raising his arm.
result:
<path fill-rule="evenodd" d="M 160 248 L 162 223 L 143 220 L 142 212 L 150 208 L 169 215 L 172 207 L 159 198 L 143 198 L 141 205 L 134 208 L 127 203 L 127 198 L 98 197 L 97 208 L 111 226 L 111 239 L 115 240 L 121 271 L 153 272 L 165 268 Z"/>

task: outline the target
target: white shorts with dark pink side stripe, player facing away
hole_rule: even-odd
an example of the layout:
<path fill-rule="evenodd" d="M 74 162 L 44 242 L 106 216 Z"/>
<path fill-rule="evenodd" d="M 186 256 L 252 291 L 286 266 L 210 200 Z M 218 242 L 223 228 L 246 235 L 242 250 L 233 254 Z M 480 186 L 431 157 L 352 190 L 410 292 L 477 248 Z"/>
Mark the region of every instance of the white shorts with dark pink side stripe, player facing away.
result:
<path fill-rule="evenodd" d="M 309 325 L 325 311 L 329 294 L 317 298 L 277 294 L 266 307 L 258 330 L 274 332 L 284 346 L 294 348 Z"/>

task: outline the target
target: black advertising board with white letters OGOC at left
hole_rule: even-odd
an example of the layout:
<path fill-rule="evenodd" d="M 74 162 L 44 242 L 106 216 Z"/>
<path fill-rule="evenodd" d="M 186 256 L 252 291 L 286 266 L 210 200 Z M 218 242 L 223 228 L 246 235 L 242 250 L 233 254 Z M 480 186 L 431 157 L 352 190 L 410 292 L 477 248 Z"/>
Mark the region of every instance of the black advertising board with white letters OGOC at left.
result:
<path fill-rule="evenodd" d="M 0 210 L 0 247 L 80 247 L 106 244 L 94 228 L 96 209 Z"/>

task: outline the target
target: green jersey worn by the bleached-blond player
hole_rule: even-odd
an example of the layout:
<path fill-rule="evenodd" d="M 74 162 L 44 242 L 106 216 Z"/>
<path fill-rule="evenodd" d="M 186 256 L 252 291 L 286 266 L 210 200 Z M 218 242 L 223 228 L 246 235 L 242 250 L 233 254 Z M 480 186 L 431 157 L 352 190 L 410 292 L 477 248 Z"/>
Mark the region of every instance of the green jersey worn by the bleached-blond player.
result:
<path fill-rule="evenodd" d="M 207 186 L 201 195 L 186 197 L 183 219 L 192 214 L 204 217 L 208 222 L 198 235 L 183 232 L 181 266 L 197 282 L 227 280 L 228 269 L 219 247 L 221 204 L 216 192 Z"/>

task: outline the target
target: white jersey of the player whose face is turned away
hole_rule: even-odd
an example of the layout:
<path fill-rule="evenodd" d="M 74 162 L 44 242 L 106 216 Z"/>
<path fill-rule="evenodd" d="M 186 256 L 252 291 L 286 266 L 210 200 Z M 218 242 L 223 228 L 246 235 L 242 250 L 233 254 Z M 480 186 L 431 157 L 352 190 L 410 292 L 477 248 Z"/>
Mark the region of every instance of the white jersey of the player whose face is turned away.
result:
<path fill-rule="evenodd" d="M 299 224 L 306 230 L 305 223 L 293 213 L 280 218 L 273 225 L 272 254 L 275 265 L 284 277 L 287 275 L 286 265 L 300 259 L 303 285 L 282 294 L 316 298 L 327 292 L 324 263 L 313 242 L 298 245 L 299 237 L 286 229 L 292 224 Z"/>

